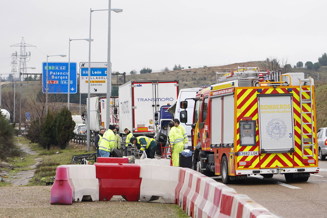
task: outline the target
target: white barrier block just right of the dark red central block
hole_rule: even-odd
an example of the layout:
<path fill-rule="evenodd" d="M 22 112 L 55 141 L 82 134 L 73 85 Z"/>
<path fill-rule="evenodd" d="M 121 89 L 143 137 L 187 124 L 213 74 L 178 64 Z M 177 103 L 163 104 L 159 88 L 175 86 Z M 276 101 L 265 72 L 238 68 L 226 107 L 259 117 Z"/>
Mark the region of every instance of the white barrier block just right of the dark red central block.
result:
<path fill-rule="evenodd" d="M 154 161 L 159 163 L 159 161 Z M 161 161 L 163 163 L 163 161 Z M 166 203 L 175 203 L 175 189 L 178 184 L 181 167 L 139 164 L 141 187 L 140 200 L 153 201 L 163 197 Z"/>

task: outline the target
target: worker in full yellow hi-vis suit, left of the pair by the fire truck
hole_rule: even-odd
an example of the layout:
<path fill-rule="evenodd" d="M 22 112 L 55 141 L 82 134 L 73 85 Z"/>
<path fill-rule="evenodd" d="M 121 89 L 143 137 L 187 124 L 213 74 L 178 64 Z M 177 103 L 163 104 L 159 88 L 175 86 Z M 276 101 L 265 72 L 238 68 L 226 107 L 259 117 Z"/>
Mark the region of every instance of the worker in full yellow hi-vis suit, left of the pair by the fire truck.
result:
<path fill-rule="evenodd" d="M 169 122 L 170 131 L 169 131 L 169 141 L 170 146 L 173 150 L 172 152 L 172 159 L 173 159 L 173 166 L 180 165 L 180 153 L 184 149 L 184 139 L 181 130 L 175 127 L 173 121 Z"/>

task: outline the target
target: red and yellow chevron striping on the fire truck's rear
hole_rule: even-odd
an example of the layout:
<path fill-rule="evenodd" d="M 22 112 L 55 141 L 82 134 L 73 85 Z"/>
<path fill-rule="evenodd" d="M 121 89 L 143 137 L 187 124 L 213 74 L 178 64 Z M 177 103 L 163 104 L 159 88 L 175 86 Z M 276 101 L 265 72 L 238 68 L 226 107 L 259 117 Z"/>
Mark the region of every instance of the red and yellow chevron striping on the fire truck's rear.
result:
<path fill-rule="evenodd" d="M 259 169 L 259 168 L 276 168 L 276 167 L 301 167 L 301 166 L 316 166 L 318 165 L 318 153 L 317 150 L 314 150 L 314 154 L 310 149 L 311 144 L 308 144 L 304 148 L 305 155 L 313 155 L 313 158 L 316 159 L 316 164 L 303 164 L 302 159 L 311 159 L 312 157 L 302 157 L 301 151 L 301 117 L 300 117 L 300 88 L 298 86 L 288 86 L 288 87 L 236 87 L 235 88 L 235 135 L 234 139 L 236 142 L 236 152 L 239 151 L 259 151 L 260 141 L 259 141 L 259 128 L 256 126 L 256 145 L 255 146 L 240 146 L 239 141 L 239 121 L 243 117 L 251 117 L 251 120 L 256 120 L 257 124 L 259 123 L 258 119 L 258 100 L 257 100 L 257 89 L 262 89 L 260 94 L 279 94 L 279 93 L 290 93 L 287 91 L 287 88 L 292 88 L 293 93 L 293 113 L 295 119 L 294 126 L 294 140 L 295 140 L 295 152 L 292 153 L 271 153 L 271 154 L 261 154 L 261 156 L 237 156 L 235 158 L 235 169 Z M 309 90 L 310 86 L 302 86 L 302 90 Z M 310 99 L 308 95 L 309 92 L 302 92 L 302 99 Z M 313 92 L 314 93 L 314 92 Z M 314 96 L 313 96 L 314 99 Z M 314 102 L 313 102 L 314 104 Z M 311 111 L 310 104 L 302 104 L 302 110 L 304 112 Z M 315 108 L 314 108 L 315 116 Z M 310 114 L 303 114 L 303 123 L 311 123 Z M 316 121 L 314 117 L 314 132 L 316 131 Z M 311 125 L 303 124 L 303 133 L 311 133 Z M 304 135 L 304 138 L 309 138 L 308 135 Z M 314 135 L 314 143 L 317 144 L 317 136 Z M 316 147 L 315 147 L 316 148 Z M 260 153 L 260 152 L 259 152 Z M 251 166 L 238 166 L 239 161 L 251 161 Z"/>

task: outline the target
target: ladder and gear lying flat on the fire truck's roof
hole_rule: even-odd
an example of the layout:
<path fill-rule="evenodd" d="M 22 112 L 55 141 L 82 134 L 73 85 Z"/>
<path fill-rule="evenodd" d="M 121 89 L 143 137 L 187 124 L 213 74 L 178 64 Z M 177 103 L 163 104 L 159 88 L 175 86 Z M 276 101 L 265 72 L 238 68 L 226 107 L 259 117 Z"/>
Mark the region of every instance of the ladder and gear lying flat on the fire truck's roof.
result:
<path fill-rule="evenodd" d="M 223 74 L 218 77 L 218 74 Z M 259 76 L 259 74 L 262 74 Z M 269 71 L 260 72 L 259 67 L 237 67 L 237 71 L 231 73 L 218 73 L 216 72 L 217 82 L 219 81 L 232 81 L 238 80 L 257 80 L 263 78 L 264 74 L 269 75 Z"/>

